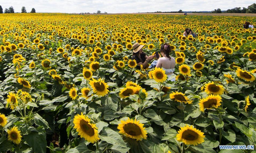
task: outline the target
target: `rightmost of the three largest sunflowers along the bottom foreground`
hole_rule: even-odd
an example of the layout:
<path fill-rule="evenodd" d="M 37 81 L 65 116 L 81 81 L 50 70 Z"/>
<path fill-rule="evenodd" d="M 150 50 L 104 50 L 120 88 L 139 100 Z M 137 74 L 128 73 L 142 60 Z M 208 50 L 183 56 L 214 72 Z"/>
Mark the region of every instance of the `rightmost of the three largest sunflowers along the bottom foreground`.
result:
<path fill-rule="evenodd" d="M 181 127 L 178 131 L 179 134 L 176 135 L 177 140 L 179 142 L 183 142 L 186 145 L 197 145 L 204 142 L 204 133 L 200 130 L 190 127 L 187 125 L 186 127 Z"/>

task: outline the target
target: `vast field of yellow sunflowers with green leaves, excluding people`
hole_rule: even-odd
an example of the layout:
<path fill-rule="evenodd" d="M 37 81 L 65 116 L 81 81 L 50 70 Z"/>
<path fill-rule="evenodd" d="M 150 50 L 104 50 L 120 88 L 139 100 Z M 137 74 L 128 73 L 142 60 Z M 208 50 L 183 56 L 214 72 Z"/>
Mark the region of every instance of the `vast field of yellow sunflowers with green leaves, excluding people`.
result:
<path fill-rule="evenodd" d="M 256 146 L 255 17 L 0 14 L 0 152 Z M 191 28 L 198 37 L 183 36 Z M 176 81 L 136 69 L 169 43 Z M 255 153 L 240 149 L 236 153 Z"/>

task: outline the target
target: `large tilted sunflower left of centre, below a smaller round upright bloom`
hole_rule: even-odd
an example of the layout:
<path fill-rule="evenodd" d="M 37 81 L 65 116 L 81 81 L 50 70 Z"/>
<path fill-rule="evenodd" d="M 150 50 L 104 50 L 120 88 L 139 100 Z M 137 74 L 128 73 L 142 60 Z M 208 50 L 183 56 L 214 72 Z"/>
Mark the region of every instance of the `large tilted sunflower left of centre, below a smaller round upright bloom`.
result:
<path fill-rule="evenodd" d="M 96 95 L 105 96 L 108 94 L 108 84 L 106 84 L 103 79 L 100 78 L 99 80 L 95 80 L 92 78 L 89 84 L 91 85 L 92 90 L 94 93 L 96 93 Z"/>

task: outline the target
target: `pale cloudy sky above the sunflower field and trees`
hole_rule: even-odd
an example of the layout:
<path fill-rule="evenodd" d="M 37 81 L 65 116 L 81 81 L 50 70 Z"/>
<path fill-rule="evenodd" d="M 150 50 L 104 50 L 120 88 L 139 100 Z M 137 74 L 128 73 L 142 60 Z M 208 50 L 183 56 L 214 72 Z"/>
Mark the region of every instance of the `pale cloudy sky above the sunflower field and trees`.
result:
<path fill-rule="evenodd" d="M 137 13 L 155 11 L 222 11 L 234 7 L 248 7 L 255 0 L 0 0 L 3 10 L 13 6 L 15 12 L 21 12 L 25 6 L 27 12 L 32 8 L 36 12 L 80 13 Z"/>

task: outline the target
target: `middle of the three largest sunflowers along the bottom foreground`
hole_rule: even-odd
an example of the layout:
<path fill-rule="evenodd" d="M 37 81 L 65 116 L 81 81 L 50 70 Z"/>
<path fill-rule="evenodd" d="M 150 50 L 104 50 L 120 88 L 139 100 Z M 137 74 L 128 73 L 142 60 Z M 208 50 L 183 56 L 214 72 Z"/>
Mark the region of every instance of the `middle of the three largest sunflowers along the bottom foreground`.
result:
<path fill-rule="evenodd" d="M 119 133 L 122 135 L 140 141 L 141 139 L 147 139 L 147 131 L 143 126 L 144 124 L 141 124 L 140 121 L 128 118 L 125 121 L 121 120 L 121 123 L 118 124 L 117 129 L 120 130 Z"/>

